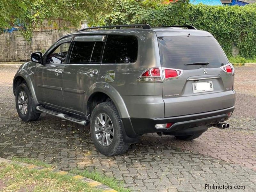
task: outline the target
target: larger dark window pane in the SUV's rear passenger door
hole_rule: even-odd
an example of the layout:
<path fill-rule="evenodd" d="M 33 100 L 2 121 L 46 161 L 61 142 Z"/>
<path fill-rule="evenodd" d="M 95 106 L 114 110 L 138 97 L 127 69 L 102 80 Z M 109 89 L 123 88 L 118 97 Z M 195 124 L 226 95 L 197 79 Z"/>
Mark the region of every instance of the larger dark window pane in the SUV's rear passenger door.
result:
<path fill-rule="evenodd" d="M 95 42 L 74 42 L 70 63 L 89 63 Z"/>

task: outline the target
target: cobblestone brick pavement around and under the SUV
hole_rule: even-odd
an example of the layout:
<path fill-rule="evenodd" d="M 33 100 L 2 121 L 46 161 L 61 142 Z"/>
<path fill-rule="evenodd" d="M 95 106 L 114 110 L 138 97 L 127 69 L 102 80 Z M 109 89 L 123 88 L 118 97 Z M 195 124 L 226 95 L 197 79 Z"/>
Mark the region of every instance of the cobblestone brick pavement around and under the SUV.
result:
<path fill-rule="evenodd" d="M 12 94 L 16 70 L 0 68 L 0 157 L 27 156 L 62 170 L 96 170 L 124 180 L 134 191 L 205 191 L 205 184 L 256 191 L 256 65 L 236 68 L 236 110 L 229 129 L 210 128 L 193 141 L 146 134 L 115 157 L 95 150 L 89 127 L 48 114 L 22 122 Z"/>

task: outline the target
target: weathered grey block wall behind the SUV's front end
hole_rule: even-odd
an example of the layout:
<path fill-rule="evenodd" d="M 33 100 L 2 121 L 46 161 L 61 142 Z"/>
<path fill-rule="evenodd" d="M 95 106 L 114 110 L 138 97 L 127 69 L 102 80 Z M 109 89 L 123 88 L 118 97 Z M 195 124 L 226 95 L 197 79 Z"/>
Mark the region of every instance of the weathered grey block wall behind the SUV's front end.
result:
<path fill-rule="evenodd" d="M 44 52 L 61 36 L 70 32 L 47 30 L 34 31 L 32 41 L 27 42 L 19 31 L 0 34 L 0 62 L 30 60 L 32 52 Z"/>

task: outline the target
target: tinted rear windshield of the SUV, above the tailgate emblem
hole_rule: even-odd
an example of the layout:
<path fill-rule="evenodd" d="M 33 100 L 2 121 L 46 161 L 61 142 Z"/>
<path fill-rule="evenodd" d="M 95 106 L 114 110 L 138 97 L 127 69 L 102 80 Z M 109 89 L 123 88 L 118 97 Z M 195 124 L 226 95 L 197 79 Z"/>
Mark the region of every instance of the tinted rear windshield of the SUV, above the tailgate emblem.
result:
<path fill-rule="evenodd" d="M 196 69 L 201 65 L 188 63 L 209 62 L 206 68 L 228 63 L 226 55 L 214 37 L 160 36 L 158 37 L 161 66 L 178 69 Z"/>

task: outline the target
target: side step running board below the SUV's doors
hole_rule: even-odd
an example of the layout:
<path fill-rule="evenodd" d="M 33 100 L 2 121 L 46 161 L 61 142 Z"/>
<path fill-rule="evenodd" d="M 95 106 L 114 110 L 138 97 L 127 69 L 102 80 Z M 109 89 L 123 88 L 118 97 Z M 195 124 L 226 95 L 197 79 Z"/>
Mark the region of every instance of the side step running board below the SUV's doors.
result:
<path fill-rule="evenodd" d="M 63 114 L 63 113 L 60 113 L 60 112 L 57 112 L 57 111 L 46 109 L 42 106 L 37 106 L 36 109 L 38 111 L 42 111 L 44 113 L 49 113 L 49 114 L 54 115 L 56 117 L 60 117 L 62 119 L 66 119 L 68 121 L 72 121 L 72 122 L 75 122 L 75 123 L 78 123 L 78 124 L 81 124 L 81 125 L 88 125 L 89 124 L 89 121 L 86 121 L 84 119 L 79 119 L 79 118 L 76 118 L 76 117 L 69 116 L 67 114 Z"/>

